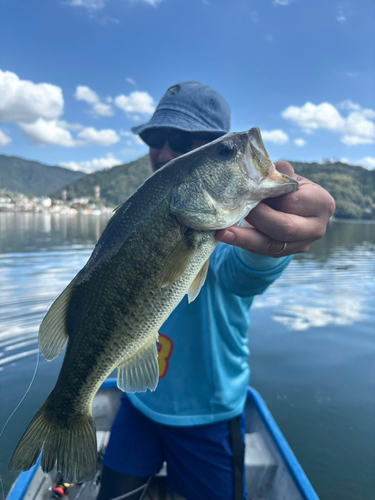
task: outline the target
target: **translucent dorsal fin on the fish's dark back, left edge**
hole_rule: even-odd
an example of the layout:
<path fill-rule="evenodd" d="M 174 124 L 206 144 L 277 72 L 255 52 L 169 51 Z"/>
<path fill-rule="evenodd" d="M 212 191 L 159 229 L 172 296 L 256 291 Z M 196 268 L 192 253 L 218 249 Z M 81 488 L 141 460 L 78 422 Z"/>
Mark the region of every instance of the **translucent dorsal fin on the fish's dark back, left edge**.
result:
<path fill-rule="evenodd" d="M 39 327 L 39 349 L 47 361 L 57 358 L 68 340 L 65 319 L 76 281 L 77 276 L 57 297 Z"/>

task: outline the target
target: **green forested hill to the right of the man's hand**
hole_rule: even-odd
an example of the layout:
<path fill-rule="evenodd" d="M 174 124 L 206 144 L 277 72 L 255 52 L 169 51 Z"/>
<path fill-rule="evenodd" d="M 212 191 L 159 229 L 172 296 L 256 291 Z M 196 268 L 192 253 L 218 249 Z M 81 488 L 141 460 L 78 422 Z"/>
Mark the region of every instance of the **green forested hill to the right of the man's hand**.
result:
<path fill-rule="evenodd" d="M 320 184 L 336 201 L 335 217 L 375 219 L 375 170 L 335 162 L 289 162 L 298 175 Z"/>

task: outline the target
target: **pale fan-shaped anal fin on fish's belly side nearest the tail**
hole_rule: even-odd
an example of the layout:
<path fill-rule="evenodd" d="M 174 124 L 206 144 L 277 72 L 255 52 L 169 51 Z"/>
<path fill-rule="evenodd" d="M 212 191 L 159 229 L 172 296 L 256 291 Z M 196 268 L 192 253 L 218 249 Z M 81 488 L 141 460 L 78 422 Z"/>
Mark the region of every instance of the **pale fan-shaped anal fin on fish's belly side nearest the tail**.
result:
<path fill-rule="evenodd" d="M 159 381 L 156 339 L 117 367 L 117 386 L 125 392 L 154 391 Z"/>

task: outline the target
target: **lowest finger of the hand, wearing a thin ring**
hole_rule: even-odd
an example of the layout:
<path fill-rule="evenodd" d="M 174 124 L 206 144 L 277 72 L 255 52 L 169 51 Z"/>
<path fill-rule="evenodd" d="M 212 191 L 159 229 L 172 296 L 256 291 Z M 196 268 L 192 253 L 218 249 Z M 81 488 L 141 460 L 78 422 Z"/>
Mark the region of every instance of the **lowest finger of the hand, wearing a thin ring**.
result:
<path fill-rule="evenodd" d="M 304 241 L 286 243 L 270 238 L 254 228 L 239 226 L 218 231 L 216 238 L 223 243 L 238 246 L 252 253 L 275 258 L 307 252 L 311 243 Z"/>

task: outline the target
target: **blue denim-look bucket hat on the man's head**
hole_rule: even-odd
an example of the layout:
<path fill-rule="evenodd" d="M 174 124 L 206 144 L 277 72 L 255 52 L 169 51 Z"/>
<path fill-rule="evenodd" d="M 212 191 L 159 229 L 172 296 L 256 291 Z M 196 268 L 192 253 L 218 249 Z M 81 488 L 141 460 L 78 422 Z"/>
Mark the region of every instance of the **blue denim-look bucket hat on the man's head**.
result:
<path fill-rule="evenodd" d="M 186 132 L 210 132 L 220 137 L 230 129 L 230 108 L 217 90 L 199 82 L 182 82 L 169 87 L 150 121 L 132 127 L 134 134 L 157 127 Z"/>

